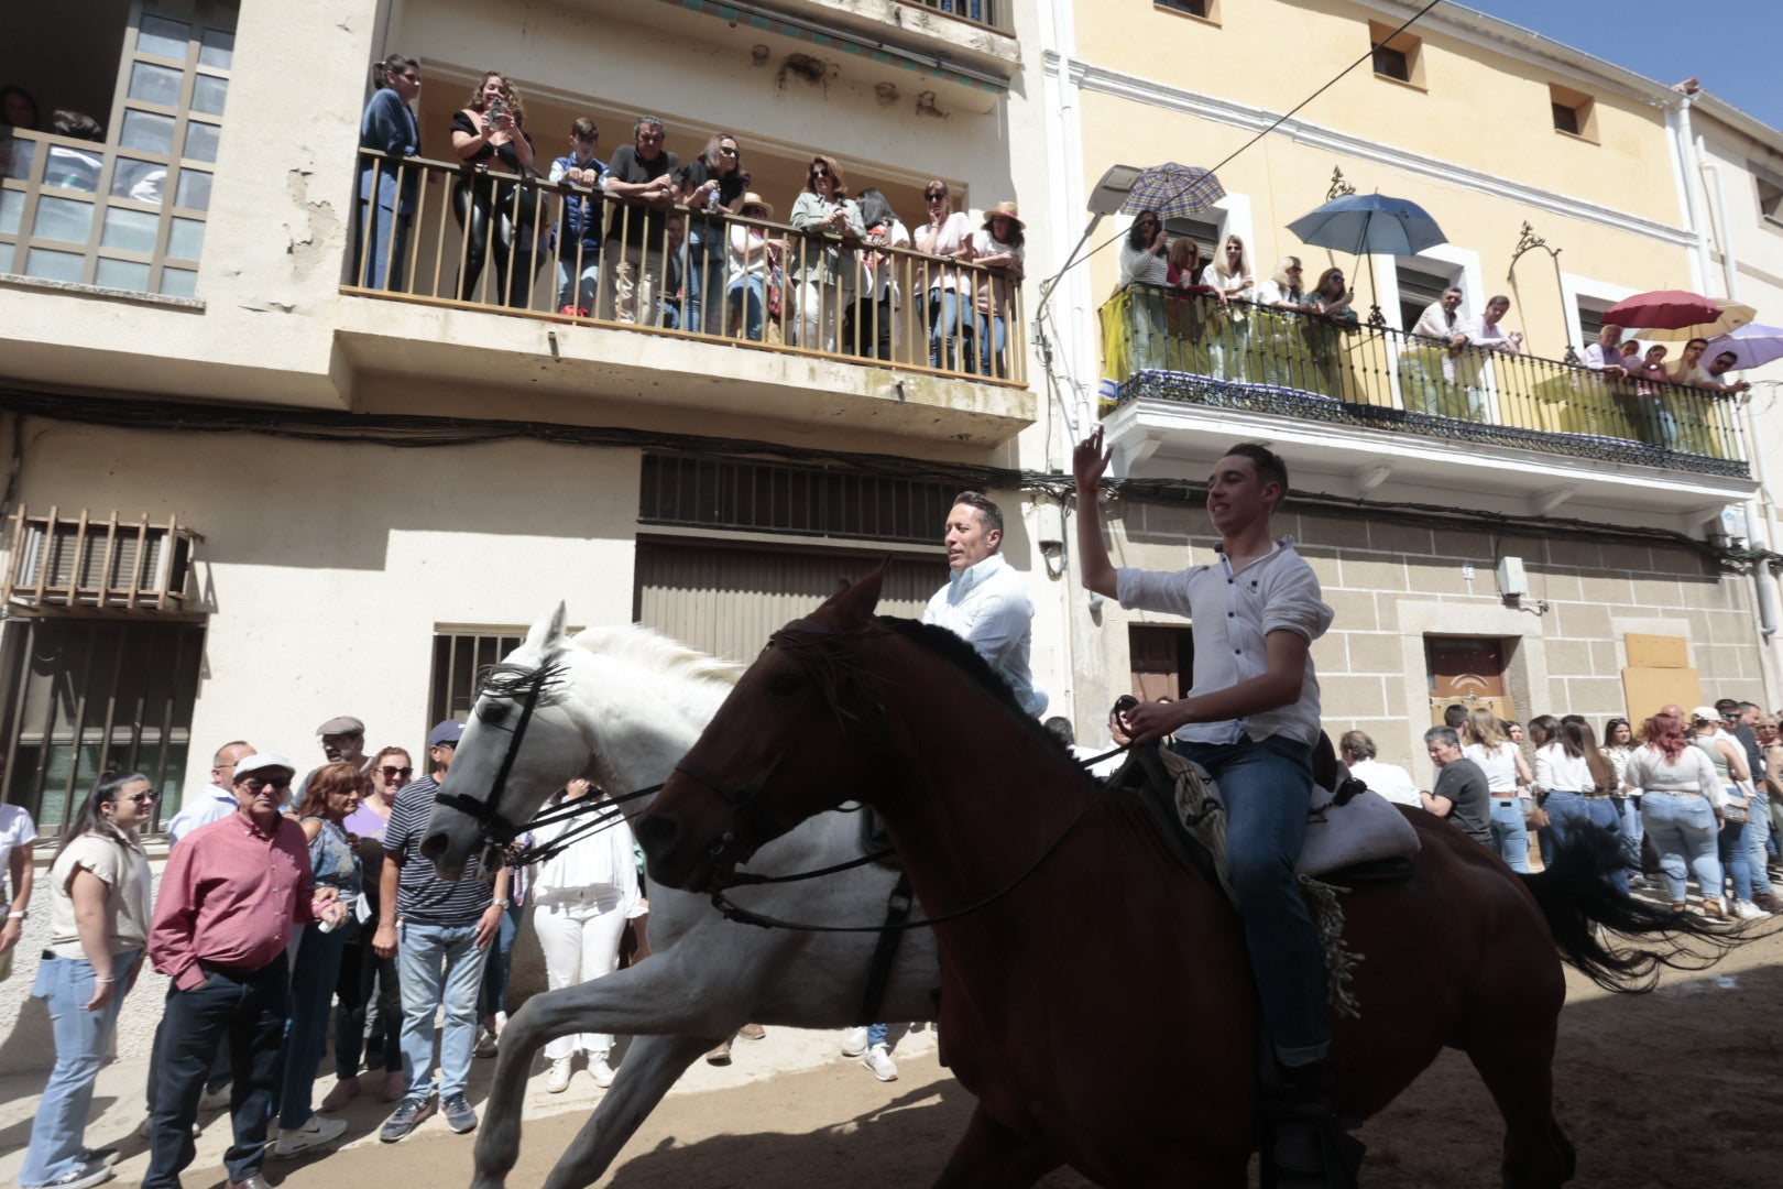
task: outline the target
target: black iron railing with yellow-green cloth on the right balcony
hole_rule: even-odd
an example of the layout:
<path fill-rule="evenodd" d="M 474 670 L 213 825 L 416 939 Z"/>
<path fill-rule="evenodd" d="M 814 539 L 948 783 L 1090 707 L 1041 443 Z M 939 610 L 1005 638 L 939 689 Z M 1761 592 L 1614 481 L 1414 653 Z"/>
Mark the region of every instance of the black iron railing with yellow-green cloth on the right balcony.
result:
<path fill-rule="evenodd" d="M 1102 307 L 1118 399 L 1166 396 L 1426 437 L 1746 474 L 1733 401 L 1706 389 L 1243 301 L 1127 285 Z"/>

